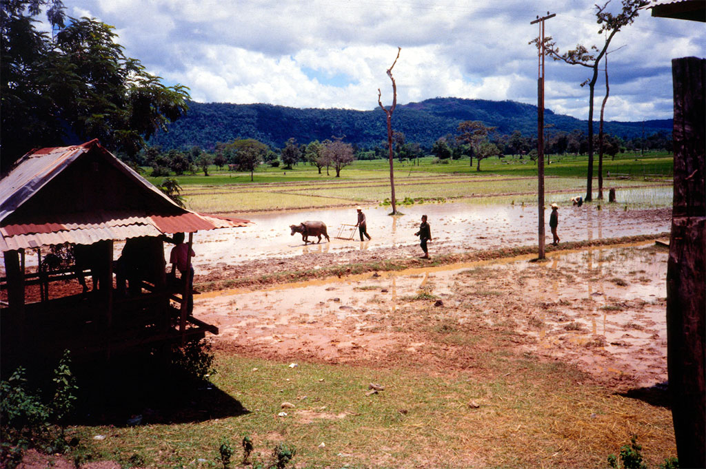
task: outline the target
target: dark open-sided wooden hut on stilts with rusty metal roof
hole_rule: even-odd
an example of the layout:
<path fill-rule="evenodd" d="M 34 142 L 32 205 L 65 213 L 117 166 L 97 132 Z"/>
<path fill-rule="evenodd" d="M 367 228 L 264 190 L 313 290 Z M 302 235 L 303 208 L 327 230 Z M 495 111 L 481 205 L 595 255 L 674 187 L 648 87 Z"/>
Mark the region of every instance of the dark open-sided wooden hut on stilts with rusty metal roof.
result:
<path fill-rule="evenodd" d="M 3 363 L 65 349 L 109 356 L 217 334 L 191 315 L 189 279 L 168 281 L 163 243 L 188 233 L 191 248 L 196 231 L 249 223 L 179 207 L 97 140 L 26 154 L 0 180 Z M 87 275 L 92 289 L 69 288 Z"/>

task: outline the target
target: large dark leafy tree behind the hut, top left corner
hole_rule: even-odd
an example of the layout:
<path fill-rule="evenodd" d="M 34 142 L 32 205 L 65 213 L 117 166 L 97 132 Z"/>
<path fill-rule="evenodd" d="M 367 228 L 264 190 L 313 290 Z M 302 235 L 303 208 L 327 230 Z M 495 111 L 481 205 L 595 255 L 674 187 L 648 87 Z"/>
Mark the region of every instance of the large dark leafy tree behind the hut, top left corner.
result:
<path fill-rule="evenodd" d="M 1 2 L 2 171 L 33 147 L 92 138 L 133 157 L 145 139 L 188 109 L 188 89 L 167 87 L 124 55 L 113 27 L 64 25 L 60 0 Z M 54 28 L 35 28 L 42 9 Z"/>

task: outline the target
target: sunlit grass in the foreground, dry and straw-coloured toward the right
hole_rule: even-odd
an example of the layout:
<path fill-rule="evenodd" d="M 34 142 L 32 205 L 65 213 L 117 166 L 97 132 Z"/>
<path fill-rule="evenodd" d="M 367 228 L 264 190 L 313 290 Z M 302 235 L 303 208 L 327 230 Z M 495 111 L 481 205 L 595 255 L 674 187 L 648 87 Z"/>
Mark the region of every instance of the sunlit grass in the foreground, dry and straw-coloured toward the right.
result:
<path fill-rule="evenodd" d="M 92 441 L 100 458 L 127 465 L 138 455 L 150 468 L 220 468 L 223 441 L 237 463 L 245 435 L 263 460 L 278 443 L 296 447 L 300 468 L 607 467 L 614 441 L 629 441 L 631 432 L 640 434 L 652 461 L 671 445 L 668 409 L 577 386 L 572 367 L 517 360 L 504 348 L 477 362 L 493 376 L 321 364 L 292 369 L 220 354 L 213 382 L 249 413 L 181 425 L 78 427 L 68 434 Z M 370 382 L 383 383 L 385 391 L 366 396 Z M 295 407 L 282 409 L 283 402 Z M 283 410 L 287 415 L 279 417 Z M 94 441 L 96 434 L 108 437 Z"/>

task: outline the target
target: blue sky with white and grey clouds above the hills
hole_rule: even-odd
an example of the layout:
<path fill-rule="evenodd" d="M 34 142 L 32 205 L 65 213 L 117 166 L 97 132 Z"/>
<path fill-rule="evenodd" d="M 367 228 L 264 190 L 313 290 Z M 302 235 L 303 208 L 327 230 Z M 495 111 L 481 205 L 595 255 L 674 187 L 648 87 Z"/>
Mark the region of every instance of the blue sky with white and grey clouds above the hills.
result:
<path fill-rule="evenodd" d="M 595 1 L 64 0 L 68 16 L 114 26 L 126 56 L 196 102 L 371 110 L 433 97 L 537 104 L 539 35 L 560 51 L 602 47 Z M 608 8 L 616 11 L 619 0 Z M 642 11 L 608 55 L 606 120 L 671 118 L 671 59 L 706 56 L 705 23 Z M 603 66 L 602 66 L 603 68 Z M 591 69 L 547 59 L 545 106 L 588 116 Z M 605 93 L 596 86 L 596 110 Z"/>

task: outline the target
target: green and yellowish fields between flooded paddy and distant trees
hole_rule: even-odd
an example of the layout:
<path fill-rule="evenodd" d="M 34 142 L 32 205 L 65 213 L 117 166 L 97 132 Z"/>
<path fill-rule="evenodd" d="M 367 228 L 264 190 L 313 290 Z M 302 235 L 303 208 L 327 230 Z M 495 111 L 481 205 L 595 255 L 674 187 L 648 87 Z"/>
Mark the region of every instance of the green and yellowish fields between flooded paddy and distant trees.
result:
<path fill-rule="evenodd" d="M 395 197 L 405 200 L 443 201 L 469 199 L 487 203 L 496 200 L 530 201 L 537 193 L 537 166 L 527 158 L 491 158 L 481 162 L 483 171 L 468 166 L 468 160 L 434 163 L 431 157 L 419 166 L 395 162 Z M 604 196 L 609 188 L 654 188 L 670 185 L 673 160 L 669 154 L 620 155 L 604 163 Z M 586 157 L 556 157 L 546 166 L 545 190 L 551 194 L 585 195 Z M 597 171 L 597 168 L 595 168 Z M 197 212 L 239 213 L 278 209 L 311 209 L 346 205 L 381 204 L 390 199 L 389 166 L 384 160 L 354 162 L 341 177 L 318 174 L 316 167 L 299 164 L 292 170 L 265 168 L 249 173 L 210 169 L 210 176 L 179 176 L 186 205 Z M 608 176 L 610 173 L 610 176 Z M 333 174 L 333 172 L 332 172 Z M 162 178 L 153 178 L 160 183 Z M 594 197 L 598 181 L 594 178 Z M 634 195 L 630 204 L 662 200 L 662 195 Z M 671 203 L 665 200 L 665 203 Z"/>

